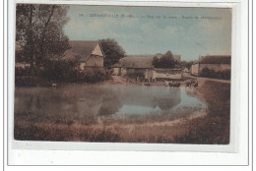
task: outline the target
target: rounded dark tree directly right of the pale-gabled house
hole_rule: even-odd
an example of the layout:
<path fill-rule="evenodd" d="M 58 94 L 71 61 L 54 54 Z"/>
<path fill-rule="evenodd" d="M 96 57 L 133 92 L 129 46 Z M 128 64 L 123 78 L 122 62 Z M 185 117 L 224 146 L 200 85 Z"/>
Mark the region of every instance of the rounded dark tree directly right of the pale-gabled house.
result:
<path fill-rule="evenodd" d="M 104 67 L 109 68 L 125 56 L 125 51 L 114 39 L 99 40 L 105 55 Z"/>

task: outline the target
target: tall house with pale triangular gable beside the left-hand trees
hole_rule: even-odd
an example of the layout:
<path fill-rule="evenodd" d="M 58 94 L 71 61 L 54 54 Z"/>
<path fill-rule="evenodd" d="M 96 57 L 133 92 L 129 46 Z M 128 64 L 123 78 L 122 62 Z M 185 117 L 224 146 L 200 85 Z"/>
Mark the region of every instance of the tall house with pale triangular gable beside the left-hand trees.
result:
<path fill-rule="evenodd" d="M 81 71 L 104 70 L 104 53 L 99 41 L 70 41 L 71 49 L 66 54 L 79 58 Z"/>

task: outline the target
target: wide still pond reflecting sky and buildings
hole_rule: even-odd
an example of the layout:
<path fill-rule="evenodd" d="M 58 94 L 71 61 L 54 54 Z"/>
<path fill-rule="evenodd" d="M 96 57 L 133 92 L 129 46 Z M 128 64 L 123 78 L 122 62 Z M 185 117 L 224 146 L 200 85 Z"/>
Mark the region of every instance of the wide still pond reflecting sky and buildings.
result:
<path fill-rule="evenodd" d="M 96 124 L 114 120 L 156 121 L 203 112 L 195 89 L 141 85 L 16 87 L 15 119 Z"/>

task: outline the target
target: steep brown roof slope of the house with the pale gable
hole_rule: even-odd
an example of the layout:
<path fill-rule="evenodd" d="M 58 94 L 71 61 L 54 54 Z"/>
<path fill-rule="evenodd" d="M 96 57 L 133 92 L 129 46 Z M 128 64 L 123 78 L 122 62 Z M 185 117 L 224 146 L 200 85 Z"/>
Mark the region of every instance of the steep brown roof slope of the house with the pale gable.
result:
<path fill-rule="evenodd" d="M 80 61 L 87 61 L 97 43 L 98 41 L 72 40 L 69 42 L 71 49 L 67 54 L 75 54 L 80 57 Z"/>

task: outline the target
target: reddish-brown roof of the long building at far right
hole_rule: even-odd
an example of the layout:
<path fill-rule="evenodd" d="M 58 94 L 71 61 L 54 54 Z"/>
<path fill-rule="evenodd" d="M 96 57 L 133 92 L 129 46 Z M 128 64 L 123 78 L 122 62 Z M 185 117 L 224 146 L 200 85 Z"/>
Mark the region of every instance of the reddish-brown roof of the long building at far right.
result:
<path fill-rule="evenodd" d="M 231 56 L 230 55 L 208 55 L 199 59 L 196 63 L 200 64 L 230 64 Z"/>

